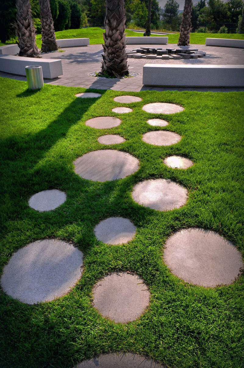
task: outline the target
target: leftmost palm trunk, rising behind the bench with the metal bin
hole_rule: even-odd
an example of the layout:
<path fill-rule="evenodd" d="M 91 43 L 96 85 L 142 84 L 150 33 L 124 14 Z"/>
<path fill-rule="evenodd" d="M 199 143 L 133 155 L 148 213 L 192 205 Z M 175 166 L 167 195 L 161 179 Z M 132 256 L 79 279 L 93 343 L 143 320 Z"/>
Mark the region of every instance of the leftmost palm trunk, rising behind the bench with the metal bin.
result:
<path fill-rule="evenodd" d="M 30 0 L 16 0 L 15 31 L 18 37 L 19 56 L 37 57 L 36 30 L 31 17 Z"/>

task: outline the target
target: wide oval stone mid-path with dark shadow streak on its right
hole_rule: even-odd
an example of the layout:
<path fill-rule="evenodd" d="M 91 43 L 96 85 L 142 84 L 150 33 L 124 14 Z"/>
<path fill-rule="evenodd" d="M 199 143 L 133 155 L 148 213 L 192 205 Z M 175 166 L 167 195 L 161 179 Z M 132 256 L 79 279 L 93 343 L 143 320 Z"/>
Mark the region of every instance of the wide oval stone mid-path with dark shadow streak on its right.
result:
<path fill-rule="evenodd" d="M 85 153 L 76 159 L 75 172 L 85 179 L 106 181 L 122 179 L 139 168 L 139 160 L 126 152 L 103 149 Z"/>

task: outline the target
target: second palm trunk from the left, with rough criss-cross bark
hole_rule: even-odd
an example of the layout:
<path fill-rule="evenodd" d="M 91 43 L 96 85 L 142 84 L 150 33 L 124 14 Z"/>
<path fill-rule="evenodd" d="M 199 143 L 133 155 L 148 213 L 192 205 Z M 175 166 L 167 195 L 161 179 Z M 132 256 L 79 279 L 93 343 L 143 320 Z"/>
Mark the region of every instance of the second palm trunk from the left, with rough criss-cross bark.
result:
<path fill-rule="evenodd" d="M 39 0 L 42 24 L 42 52 L 58 50 L 49 0 Z"/>

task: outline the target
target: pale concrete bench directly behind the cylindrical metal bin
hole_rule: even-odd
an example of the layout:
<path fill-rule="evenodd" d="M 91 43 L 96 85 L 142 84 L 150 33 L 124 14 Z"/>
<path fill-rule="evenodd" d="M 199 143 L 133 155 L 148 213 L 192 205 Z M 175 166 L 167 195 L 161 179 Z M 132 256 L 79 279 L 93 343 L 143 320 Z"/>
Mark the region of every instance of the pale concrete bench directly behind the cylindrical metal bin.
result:
<path fill-rule="evenodd" d="M 6 73 L 26 75 L 25 67 L 31 65 L 42 66 L 43 78 L 53 79 L 63 74 L 61 60 L 0 55 L 0 71 L 4 71 Z"/>

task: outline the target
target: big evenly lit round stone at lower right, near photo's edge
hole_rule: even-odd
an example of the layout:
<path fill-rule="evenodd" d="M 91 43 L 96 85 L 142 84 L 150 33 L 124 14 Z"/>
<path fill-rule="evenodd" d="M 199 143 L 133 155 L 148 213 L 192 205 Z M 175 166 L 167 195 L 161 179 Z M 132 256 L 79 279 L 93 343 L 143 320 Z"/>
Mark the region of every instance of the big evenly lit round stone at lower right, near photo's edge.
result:
<path fill-rule="evenodd" d="M 195 285 L 228 285 L 243 267 L 241 253 L 215 231 L 180 230 L 168 238 L 165 247 L 166 265 L 177 277 Z"/>

